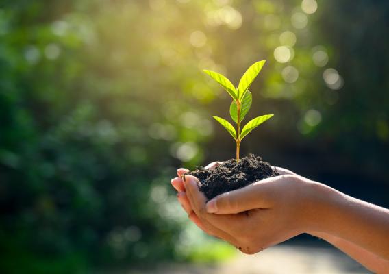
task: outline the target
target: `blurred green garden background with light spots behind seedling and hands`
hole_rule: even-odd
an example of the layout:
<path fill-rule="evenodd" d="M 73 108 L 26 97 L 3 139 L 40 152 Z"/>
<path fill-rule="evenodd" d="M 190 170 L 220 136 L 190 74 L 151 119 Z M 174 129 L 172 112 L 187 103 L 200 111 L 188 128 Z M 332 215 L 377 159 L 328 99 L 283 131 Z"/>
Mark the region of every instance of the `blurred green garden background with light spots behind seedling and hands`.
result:
<path fill-rule="evenodd" d="M 387 0 L 1 1 L 1 273 L 232 252 L 169 184 L 234 157 L 201 69 L 237 84 L 266 59 L 248 115 L 275 117 L 242 155 L 389 206 L 388 23 Z"/>

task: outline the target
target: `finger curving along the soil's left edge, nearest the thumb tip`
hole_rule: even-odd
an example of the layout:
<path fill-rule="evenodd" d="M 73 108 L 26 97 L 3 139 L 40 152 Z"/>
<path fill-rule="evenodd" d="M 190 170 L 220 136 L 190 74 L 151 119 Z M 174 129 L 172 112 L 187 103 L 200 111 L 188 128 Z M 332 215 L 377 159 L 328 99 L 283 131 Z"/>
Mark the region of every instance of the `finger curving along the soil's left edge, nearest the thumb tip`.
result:
<path fill-rule="evenodd" d="M 192 175 L 186 175 L 185 182 L 186 186 L 186 195 L 192 206 L 193 211 L 199 216 L 203 223 L 207 222 L 212 224 L 212 226 L 223 230 L 224 232 L 235 232 L 235 228 L 238 226 L 241 221 L 242 216 L 239 214 L 234 214 L 230 216 L 221 216 L 215 214 L 209 214 L 205 208 L 207 198 L 199 190 L 199 183 L 196 177 Z M 234 224 L 234 226 L 231 225 Z"/>

